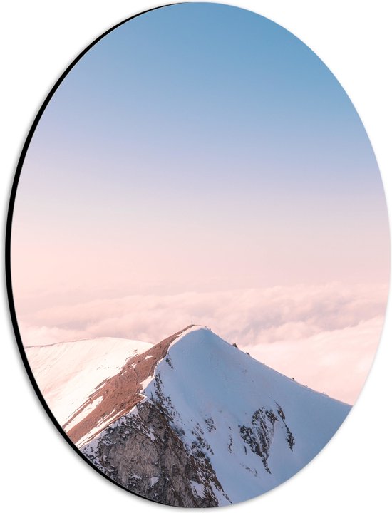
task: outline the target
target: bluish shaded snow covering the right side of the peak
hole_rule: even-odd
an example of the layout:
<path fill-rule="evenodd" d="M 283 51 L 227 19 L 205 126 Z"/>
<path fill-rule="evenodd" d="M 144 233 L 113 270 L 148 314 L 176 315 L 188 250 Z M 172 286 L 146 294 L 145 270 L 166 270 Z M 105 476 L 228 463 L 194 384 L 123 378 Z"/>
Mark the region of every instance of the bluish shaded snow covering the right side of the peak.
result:
<path fill-rule="evenodd" d="M 159 374 L 160 390 L 175 407 L 172 425 L 182 428 L 189 448 L 197 434 L 205 440 L 203 450 L 232 502 L 267 492 L 298 472 L 326 445 L 350 410 L 264 366 L 207 328 L 187 330 L 170 345 L 167 356 L 173 367 L 163 358 L 155 376 Z M 145 395 L 158 400 L 155 379 Z M 294 447 L 289 447 L 283 421 L 277 421 L 269 473 L 249 445 L 245 452 L 239 427 L 251 426 L 259 408 L 276 412 L 278 405 L 294 435 Z M 215 492 L 220 505 L 227 504 L 222 493 Z"/>

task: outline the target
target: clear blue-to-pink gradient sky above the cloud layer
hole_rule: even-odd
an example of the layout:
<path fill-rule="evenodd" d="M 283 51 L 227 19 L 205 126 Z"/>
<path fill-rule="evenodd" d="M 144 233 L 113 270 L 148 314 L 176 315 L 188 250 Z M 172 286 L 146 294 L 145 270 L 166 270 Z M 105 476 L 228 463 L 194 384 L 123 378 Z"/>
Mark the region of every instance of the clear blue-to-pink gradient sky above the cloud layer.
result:
<path fill-rule="evenodd" d="M 83 56 L 31 142 L 14 248 L 22 289 L 388 279 L 346 93 L 284 28 L 220 4 L 150 11 Z"/>

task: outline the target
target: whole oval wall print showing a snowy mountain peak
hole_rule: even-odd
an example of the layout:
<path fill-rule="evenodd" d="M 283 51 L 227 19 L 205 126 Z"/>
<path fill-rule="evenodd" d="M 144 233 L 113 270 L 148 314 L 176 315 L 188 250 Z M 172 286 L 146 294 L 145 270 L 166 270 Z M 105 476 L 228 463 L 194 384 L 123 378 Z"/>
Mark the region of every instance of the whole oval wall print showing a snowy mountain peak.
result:
<path fill-rule="evenodd" d="M 7 244 L 53 422 L 161 504 L 296 474 L 381 336 L 388 216 L 359 115 L 304 43 L 232 6 L 153 9 L 83 51 L 29 133 Z"/>

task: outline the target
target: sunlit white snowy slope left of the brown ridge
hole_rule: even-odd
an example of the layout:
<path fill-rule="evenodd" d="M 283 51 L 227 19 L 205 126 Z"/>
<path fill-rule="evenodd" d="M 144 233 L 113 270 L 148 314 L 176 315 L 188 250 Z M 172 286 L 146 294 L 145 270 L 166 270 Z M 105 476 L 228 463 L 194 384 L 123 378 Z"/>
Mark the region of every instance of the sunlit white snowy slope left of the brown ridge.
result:
<path fill-rule="evenodd" d="M 43 398 L 63 425 L 103 380 L 151 347 L 126 338 L 93 338 L 25 348 Z"/>

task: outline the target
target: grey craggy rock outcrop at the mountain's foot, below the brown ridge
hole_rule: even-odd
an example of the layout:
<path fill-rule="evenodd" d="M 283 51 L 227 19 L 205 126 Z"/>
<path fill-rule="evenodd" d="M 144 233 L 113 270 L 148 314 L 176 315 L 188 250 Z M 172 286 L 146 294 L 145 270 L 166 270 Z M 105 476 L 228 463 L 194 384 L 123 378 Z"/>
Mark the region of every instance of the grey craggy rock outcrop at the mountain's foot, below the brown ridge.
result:
<path fill-rule="evenodd" d="M 139 403 L 82 451 L 115 482 L 163 504 L 215 507 L 215 490 L 223 493 L 206 455 L 192 455 L 165 414 L 149 401 Z"/>

